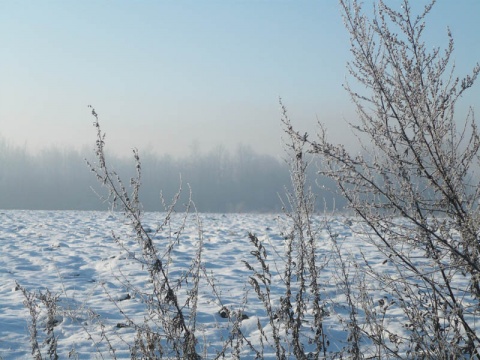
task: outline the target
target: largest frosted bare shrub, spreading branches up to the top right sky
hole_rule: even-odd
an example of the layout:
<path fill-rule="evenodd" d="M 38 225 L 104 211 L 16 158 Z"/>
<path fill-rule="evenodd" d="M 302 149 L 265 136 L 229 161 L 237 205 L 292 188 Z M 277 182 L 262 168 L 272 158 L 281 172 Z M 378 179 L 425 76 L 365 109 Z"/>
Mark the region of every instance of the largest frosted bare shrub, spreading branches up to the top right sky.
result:
<path fill-rule="evenodd" d="M 382 358 L 480 357 L 480 184 L 472 176 L 480 137 L 473 111 L 461 127 L 455 116 L 480 66 L 455 77 L 450 32 L 444 51 L 424 43 L 434 3 L 416 15 L 408 0 L 398 10 L 378 1 L 368 16 L 358 1 L 340 1 L 353 55 L 353 82 L 345 88 L 357 107 L 359 122 L 351 126 L 363 155 L 330 143 L 322 125 L 315 140 L 289 131 L 308 143 L 320 174 L 336 181 L 364 223 L 359 238 L 374 243 L 394 270 L 380 272 L 365 258 L 366 275 L 404 315 L 404 332 L 365 329 Z M 385 335 L 402 348 L 390 347 Z"/>

